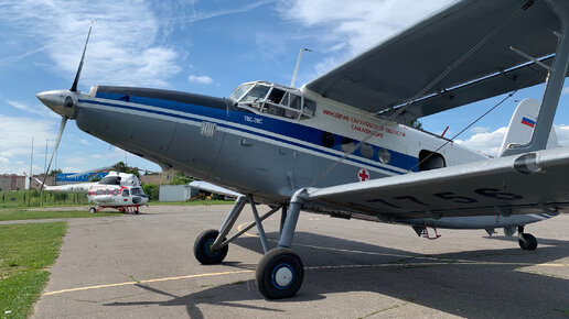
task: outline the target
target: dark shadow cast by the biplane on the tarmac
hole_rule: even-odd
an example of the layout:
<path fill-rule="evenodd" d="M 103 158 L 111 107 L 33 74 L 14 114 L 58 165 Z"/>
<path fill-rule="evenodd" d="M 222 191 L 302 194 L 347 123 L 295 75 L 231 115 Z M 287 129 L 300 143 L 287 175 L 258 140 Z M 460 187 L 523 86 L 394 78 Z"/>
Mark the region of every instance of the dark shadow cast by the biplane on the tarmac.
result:
<path fill-rule="evenodd" d="M 269 233 L 268 237 L 276 239 L 278 234 Z M 492 250 L 489 241 L 489 250 L 426 255 L 297 232 L 293 249 L 304 263 L 304 283 L 294 298 L 275 302 L 302 302 L 323 299 L 334 293 L 369 292 L 378 294 L 377 298 L 382 295 L 397 298 L 401 305 L 412 302 L 469 318 L 563 317 L 563 311 L 569 310 L 569 279 L 556 276 L 555 267 L 550 274 L 528 267 L 567 257 L 569 242 L 539 239 L 541 246 L 527 252 L 517 246 L 516 238 L 487 239 L 511 241 L 512 249 Z M 262 253 L 256 238 L 240 238 L 233 244 Z M 239 266 L 230 260 L 224 264 Z M 250 265 L 244 265 L 244 268 L 250 268 Z M 171 295 L 147 285 L 137 286 L 172 299 L 105 306 L 178 305 L 185 306 L 191 318 L 204 317 L 200 305 L 258 309 L 267 311 L 267 316 L 271 311 L 283 311 L 271 308 L 270 304 L 251 306 L 251 300 L 262 299 L 254 279 L 204 288 L 186 296 Z"/>

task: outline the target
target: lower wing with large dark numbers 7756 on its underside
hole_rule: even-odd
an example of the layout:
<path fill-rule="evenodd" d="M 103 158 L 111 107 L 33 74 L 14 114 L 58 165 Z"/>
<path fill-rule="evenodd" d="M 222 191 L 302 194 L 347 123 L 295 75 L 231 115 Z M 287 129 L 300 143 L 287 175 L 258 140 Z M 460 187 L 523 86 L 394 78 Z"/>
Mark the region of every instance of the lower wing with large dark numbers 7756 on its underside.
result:
<path fill-rule="evenodd" d="M 307 208 L 379 219 L 557 212 L 569 206 L 569 147 L 309 188 Z"/>

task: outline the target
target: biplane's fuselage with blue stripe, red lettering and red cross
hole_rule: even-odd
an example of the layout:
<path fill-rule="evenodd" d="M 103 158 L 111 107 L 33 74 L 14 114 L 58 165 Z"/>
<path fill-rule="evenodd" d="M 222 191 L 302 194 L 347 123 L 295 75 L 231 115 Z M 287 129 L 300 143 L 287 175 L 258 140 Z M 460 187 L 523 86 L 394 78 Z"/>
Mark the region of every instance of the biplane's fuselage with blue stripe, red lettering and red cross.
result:
<path fill-rule="evenodd" d="M 365 182 L 487 158 L 305 88 L 262 81 L 244 84 L 226 99 L 98 86 L 88 95 L 75 94 L 73 100 L 74 109 L 64 111 L 83 131 L 163 168 L 268 204 L 286 204 L 307 186 Z M 352 153 L 343 158 L 346 152 Z M 451 220 L 445 227 L 485 228 L 486 220 L 494 223 L 495 217 L 464 224 Z"/>

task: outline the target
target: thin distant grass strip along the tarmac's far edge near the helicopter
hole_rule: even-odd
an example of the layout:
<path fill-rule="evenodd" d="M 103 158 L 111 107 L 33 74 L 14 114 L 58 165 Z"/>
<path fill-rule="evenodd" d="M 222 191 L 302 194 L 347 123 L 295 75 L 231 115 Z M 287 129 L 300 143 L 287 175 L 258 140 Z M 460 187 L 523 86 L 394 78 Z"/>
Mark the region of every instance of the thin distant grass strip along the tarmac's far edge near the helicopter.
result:
<path fill-rule="evenodd" d="M 88 218 L 104 216 L 122 216 L 121 212 L 99 211 L 90 213 L 85 210 L 23 210 L 23 209 L 0 209 L 0 221 L 3 220 L 29 220 L 29 219 L 53 219 L 53 218 Z"/>

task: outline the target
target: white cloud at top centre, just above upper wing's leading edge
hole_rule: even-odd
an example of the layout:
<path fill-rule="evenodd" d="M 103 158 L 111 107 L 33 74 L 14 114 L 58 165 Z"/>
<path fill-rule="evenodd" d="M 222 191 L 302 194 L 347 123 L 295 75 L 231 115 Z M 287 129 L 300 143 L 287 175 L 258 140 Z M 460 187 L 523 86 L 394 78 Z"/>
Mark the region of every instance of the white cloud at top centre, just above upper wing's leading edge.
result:
<path fill-rule="evenodd" d="M 279 13 L 304 26 L 330 30 L 325 33 L 326 36 L 318 33 L 318 40 L 325 43 L 322 47 L 331 50 L 323 52 L 324 54 L 340 50 L 347 52 L 346 56 L 329 57 L 318 65 L 316 70 L 322 73 L 322 69 L 336 66 L 339 59 L 362 53 L 451 2 L 453 1 L 363 0 L 347 4 L 343 0 L 291 0 L 280 6 Z"/>

